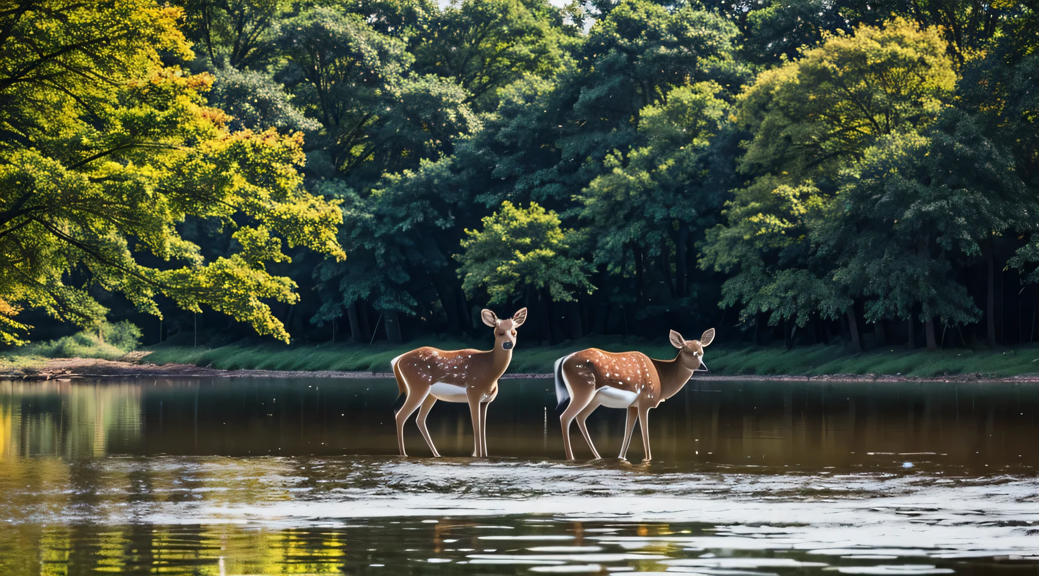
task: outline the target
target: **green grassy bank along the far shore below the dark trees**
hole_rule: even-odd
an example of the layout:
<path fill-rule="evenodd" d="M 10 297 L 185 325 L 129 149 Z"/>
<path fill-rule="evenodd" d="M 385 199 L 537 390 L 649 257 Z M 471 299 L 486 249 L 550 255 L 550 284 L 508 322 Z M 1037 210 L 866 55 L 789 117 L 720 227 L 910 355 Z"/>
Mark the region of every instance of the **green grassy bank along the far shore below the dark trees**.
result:
<path fill-rule="evenodd" d="M 148 361 L 185 363 L 216 368 L 279 371 L 373 371 L 390 372 L 390 359 L 421 345 L 444 350 L 475 347 L 488 342 L 465 342 L 450 338 L 391 346 L 375 342 L 371 347 L 352 344 L 228 346 L 206 350 L 191 347 L 158 348 Z M 671 358 L 674 349 L 666 340 L 617 336 L 592 336 L 553 347 L 524 346 L 513 354 L 510 373 L 550 373 L 560 356 L 585 348 L 609 351 L 639 350 L 654 358 Z M 1039 372 L 1039 345 L 1010 349 L 949 349 L 936 352 L 906 351 L 887 347 L 853 354 L 842 346 L 814 346 L 785 350 L 772 347 L 723 345 L 707 350 L 704 362 L 711 372 L 721 375 L 824 375 L 824 374 L 902 374 L 921 377 L 944 374 L 982 373 L 988 377 L 1007 377 Z"/>

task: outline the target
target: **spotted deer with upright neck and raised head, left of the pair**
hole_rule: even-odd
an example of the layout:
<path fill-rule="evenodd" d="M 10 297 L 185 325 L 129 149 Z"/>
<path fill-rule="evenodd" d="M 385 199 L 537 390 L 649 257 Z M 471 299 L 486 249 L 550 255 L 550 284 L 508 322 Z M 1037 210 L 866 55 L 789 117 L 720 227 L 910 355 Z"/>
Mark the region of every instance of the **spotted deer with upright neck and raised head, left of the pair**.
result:
<path fill-rule="evenodd" d="M 473 457 L 487 456 L 487 405 L 498 396 L 498 379 L 505 374 L 516 345 L 516 328 L 527 320 L 527 308 L 521 308 L 511 319 L 501 320 L 484 308 L 480 312 L 484 324 L 495 329 L 491 350 L 444 351 L 428 346 L 401 354 L 390 361 L 397 378 L 397 397 L 406 394 L 397 411 L 397 447 L 404 450 L 404 422 L 417 408 L 416 423 L 434 458 L 436 446 L 426 429 L 426 416 L 436 401 L 468 403 L 473 417 Z"/>

